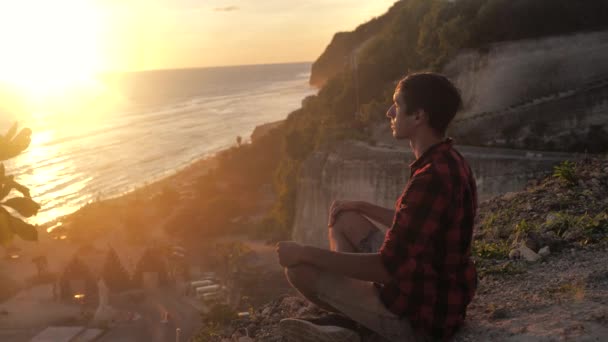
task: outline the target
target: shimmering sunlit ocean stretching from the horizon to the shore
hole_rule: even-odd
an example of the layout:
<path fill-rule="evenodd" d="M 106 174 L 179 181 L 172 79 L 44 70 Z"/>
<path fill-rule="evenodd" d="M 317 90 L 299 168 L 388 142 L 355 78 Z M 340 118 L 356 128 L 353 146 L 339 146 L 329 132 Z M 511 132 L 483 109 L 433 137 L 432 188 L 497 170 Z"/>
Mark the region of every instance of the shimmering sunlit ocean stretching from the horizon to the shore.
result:
<path fill-rule="evenodd" d="M 30 187 L 42 224 L 85 204 L 119 196 L 249 140 L 260 124 L 281 120 L 316 92 L 310 63 L 106 74 L 126 105 L 86 110 L 69 120 L 21 119 L 32 144 L 5 162 Z M 9 128 L 4 118 L 3 132 Z"/>

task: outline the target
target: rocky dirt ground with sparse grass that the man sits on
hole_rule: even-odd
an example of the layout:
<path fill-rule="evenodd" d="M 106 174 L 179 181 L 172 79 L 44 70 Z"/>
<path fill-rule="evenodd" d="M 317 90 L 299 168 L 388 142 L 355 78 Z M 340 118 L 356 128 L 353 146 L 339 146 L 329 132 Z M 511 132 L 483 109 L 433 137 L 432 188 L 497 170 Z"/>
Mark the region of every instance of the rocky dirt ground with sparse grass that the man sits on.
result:
<path fill-rule="evenodd" d="M 473 246 L 480 284 L 455 341 L 608 336 L 607 192 L 604 157 L 564 163 L 524 191 L 481 203 Z M 199 340 L 248 334 L 254 341 L 284 341 L 280 319 L 322 315 L 293 293 L 253 309 L 249 318 L 214 330 L 215 337 L 201 332 Z M 369 332 L 362 336 L 381 341 Z"/>

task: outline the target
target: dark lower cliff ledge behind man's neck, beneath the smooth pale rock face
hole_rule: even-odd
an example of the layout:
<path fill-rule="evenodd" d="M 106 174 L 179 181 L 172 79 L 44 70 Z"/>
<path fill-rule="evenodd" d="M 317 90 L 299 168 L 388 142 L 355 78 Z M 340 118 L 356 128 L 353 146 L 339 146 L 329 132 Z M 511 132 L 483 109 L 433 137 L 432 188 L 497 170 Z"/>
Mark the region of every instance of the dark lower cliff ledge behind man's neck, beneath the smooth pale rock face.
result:
<path fill-rule="evenodd" d="M 599 153 L 608 146 L 608 79 L 456 120 L 466 144 Z"/>

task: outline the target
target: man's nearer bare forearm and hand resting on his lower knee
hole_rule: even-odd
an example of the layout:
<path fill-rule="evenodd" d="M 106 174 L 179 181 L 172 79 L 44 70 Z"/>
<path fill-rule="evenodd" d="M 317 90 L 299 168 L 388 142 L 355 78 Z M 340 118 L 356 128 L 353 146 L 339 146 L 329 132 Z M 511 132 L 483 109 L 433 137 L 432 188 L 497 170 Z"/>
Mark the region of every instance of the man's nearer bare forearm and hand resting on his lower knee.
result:
<path fill-rule="evenodd" d="M 381 284 L 391 281 L 391 276 L 382 263 L 380 253 L 344 253 L 302 246 L 301 261 L 345 277 Z"/>

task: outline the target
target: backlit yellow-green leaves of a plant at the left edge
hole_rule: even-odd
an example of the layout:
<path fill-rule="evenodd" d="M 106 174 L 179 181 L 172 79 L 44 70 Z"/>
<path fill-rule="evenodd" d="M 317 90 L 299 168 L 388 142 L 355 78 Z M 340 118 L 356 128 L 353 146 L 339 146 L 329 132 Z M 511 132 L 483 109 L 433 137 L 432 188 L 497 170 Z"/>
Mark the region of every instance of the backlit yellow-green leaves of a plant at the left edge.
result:
<path fill-rule="evenodd" d="M 17 133 L 15 123 L 4 136 L 0 136 L 0 161 L 18 156 L 30 145 L 32 131 L 29 128 Z M 21 193 L 21 196 L 7 198 L 12 190 Z M 38 213 L 40 205 L 30 197 L 30 190 L 15 181 L 14 176 L 7 175 L 4 163 L 0 163 L 0 244 L 6 246 L 14 235 L 23 240 L 37 241 L 36 227 L 24 222 L 21 218 L 11 214 L 7 208 L 17 212 L 22 217 L 31 217 Z"/>

